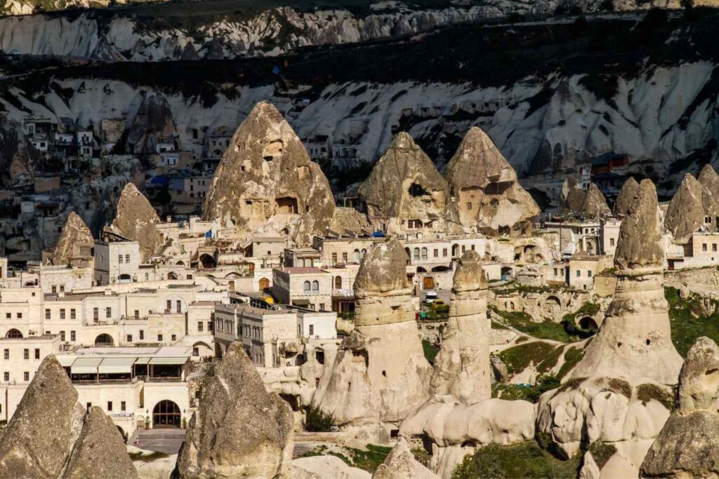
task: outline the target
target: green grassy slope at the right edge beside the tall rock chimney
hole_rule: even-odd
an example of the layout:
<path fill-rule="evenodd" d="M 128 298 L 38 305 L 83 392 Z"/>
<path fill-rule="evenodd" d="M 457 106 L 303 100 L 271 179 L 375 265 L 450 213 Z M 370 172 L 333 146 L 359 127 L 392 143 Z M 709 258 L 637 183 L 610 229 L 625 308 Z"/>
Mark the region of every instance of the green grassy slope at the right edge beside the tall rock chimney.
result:
<path fill-rule="evenodd" d="M 679 298 L 676 288 L 664 288 L 664 297 L 669 302 L 669 320 L 672 323 L 672 343 L 682 358 L 697 338 L 706 336 L 719 343 L 719 314 L 703 315 L 701 299 L 692 294 L 687 299 Z M 714 299 L 711 301 L 715 302 Z"/>

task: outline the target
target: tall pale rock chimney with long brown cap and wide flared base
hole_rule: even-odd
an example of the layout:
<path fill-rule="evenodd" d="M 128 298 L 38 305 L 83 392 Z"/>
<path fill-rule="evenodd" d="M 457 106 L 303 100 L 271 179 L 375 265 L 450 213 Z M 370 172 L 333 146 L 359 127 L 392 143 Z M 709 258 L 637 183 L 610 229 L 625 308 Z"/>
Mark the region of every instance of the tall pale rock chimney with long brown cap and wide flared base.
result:
<path fill-rule="evenodd" d="M 638 201 L 619 231 L 615 298 L 585 357 L 572 371 L 574 378 L 636 376 L 677 383 L 682 358 L 669 330 L 663 263 L 656 190 L 651 181 L 642 180 Z"/>

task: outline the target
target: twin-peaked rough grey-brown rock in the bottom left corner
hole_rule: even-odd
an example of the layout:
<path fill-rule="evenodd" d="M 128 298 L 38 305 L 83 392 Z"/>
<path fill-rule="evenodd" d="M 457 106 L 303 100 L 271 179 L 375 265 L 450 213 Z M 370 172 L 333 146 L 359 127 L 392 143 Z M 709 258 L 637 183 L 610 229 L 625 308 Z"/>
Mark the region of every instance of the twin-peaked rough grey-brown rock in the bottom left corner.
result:
<path fill-rule="evenodd" d="M 0 436 L 3 478 L 137 478 L 122 437 L 78 393 L 54 355 L 42 360 Z"/>

